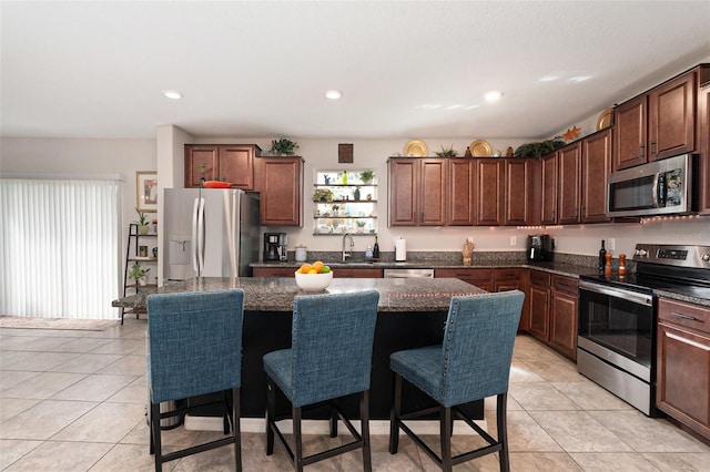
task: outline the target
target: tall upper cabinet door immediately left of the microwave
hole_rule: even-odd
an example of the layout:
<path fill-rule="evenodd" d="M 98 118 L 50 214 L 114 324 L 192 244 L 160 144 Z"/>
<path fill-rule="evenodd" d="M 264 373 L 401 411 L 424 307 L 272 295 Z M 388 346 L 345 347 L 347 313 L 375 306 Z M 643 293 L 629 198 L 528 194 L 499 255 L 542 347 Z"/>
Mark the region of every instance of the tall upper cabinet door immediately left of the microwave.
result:
<path fill-rule="evenodd" d="M 607 217 L 607 185 L 611 172 L 611 129 L 581 142 L 581 223 L 604 223 Z"/>

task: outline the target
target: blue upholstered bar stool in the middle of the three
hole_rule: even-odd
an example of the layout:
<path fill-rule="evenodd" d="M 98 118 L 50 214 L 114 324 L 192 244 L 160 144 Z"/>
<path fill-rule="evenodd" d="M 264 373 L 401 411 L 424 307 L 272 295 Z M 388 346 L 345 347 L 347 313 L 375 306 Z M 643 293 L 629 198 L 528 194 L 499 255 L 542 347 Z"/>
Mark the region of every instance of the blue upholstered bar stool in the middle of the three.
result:
<path fill-rule="evenodd" d="M 266 454 L 274 452 L 274 433 L 278 437 L 296 471 L 304 465 L 363 449 L 364 470 L 372 470 L 369 451 L 369 377 L 373 339 L 377 321 L 379 294 L 300 296 L 293 302 L 291 349 L 264 356 L 267 380 Z M 278 429 L 275 417 L 276 386 L 291 401 L 295 454 Z M 362 433 L 353 427 L 337 406 L 341 397 L 361 393 Z M 301 438 L 302 409 L 328 403 L 331 437 L 337 437 L 339 418 L 354 438 L 353 442 L 303 456 Z"/>

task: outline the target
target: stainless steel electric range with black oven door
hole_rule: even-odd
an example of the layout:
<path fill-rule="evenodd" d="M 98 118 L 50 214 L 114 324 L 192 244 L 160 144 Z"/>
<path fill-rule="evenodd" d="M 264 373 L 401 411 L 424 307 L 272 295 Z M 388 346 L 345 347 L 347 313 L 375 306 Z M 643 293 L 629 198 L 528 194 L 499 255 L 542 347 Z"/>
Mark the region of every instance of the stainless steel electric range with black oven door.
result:
<path fill-rule="evenodd" d="M 637 244 L 636 273 L 581 276 L 577 369 L 655 414 L 657 296 L 710 300 L 710 246 Z"/>

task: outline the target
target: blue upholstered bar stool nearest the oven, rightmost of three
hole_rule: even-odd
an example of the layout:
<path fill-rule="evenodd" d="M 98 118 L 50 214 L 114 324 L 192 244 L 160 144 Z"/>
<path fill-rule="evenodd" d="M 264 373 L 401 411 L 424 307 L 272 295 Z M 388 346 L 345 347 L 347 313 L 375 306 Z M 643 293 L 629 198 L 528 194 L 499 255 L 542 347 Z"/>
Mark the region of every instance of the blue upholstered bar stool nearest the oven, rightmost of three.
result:
<path fill-rule="evenodd" d="M 444 471 L 462 462 L 499 452 L 500 470 L 510 470 L 506 431 L 508 378 L 513 345 L 520 321 L 521 291 L 453 297 L 442 345 L 394 352 L 394 399 L 389 429 L 389 452 L 397 453 L 399 429 L 410 437 Z M 402 413 L 402 379 L 439 404 Z M 498 440 L 456 408 L 497 396 Z M 439 413 L 442 455 L 438 456 L 404 421 Z M 488 445 L 452 458 L 454 417 L 464 420 Z"/>

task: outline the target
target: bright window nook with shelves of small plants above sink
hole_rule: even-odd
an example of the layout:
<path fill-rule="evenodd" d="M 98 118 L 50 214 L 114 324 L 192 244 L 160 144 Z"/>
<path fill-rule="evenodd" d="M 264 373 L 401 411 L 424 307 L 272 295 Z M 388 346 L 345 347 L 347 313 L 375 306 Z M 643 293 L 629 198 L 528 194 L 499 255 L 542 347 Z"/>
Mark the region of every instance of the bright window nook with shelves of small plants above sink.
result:
<path fill-rule="evenodd" d="M 312 199 L 314 236 L 377 234 L 377 176 L 373 171 L 316 171 Z"/>

